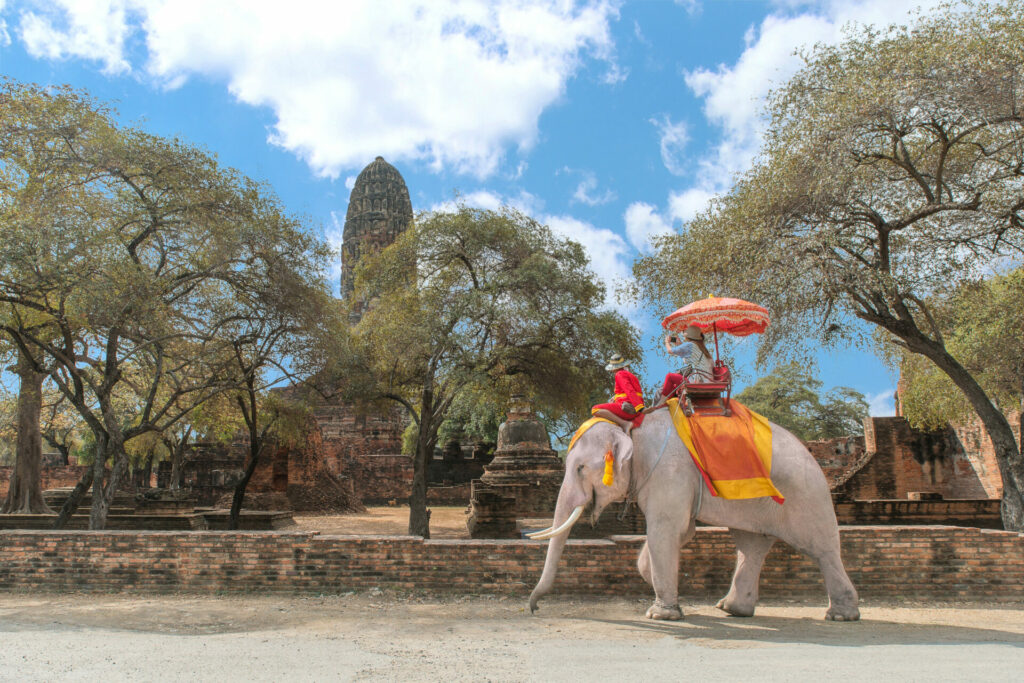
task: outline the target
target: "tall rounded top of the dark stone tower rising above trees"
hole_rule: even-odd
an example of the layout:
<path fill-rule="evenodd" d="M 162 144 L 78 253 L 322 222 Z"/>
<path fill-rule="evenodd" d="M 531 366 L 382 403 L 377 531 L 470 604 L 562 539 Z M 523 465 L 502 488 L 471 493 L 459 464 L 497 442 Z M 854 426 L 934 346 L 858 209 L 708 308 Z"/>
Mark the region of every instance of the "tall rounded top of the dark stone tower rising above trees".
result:
<path fill-rule="evenodd" d="M 355 178 L 345 214 L 341 247 L 341 296 L 355 285 L 355 268 L 364 254 L 384 249 L 413 221 L 413 203 L 398 169 L 378 157 Z"/>

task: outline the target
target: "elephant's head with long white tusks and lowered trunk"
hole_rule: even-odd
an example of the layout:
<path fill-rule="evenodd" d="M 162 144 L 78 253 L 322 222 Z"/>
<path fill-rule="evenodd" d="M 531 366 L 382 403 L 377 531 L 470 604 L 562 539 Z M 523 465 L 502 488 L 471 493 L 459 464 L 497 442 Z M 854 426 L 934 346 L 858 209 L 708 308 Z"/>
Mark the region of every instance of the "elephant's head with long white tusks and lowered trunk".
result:
<path fill-rule="evenodd" d="M 536 541 L 550 539 L 544 572 L 529 596 L 531 612 L 537 610 L 537 601 L 551 592 L 565 541 L 588 506 L 591 521 L 596 523 L 604 508 L 626 498 L 632 458 L 633 440 L 620 427 L 603 422 L 591 427 L 569 449 L 554 524 L 529 536 Z"/>

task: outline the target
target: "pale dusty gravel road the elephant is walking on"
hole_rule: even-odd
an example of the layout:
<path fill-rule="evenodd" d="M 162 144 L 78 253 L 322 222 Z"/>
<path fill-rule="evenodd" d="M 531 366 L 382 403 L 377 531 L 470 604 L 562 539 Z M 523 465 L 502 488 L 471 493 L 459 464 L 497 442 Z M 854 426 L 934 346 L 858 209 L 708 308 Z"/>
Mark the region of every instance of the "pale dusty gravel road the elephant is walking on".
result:
<path fill-rule="evenodd" d="M 3 681 L 1019 681 L 1024 605 L 0 594 Z"/>

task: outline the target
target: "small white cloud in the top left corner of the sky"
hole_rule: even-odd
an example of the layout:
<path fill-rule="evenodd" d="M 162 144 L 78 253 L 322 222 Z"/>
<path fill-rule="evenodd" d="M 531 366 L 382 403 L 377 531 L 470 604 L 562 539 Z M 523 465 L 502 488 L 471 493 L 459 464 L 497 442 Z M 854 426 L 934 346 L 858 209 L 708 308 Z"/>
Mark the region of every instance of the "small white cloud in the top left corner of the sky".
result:
<path fill-rule="evenodd" d="M 124 55 L 129 0 L 49 0 L 20 13 L 17 36 L 29 54 L 49 59 L 81 57 L 105 74 L 131 71 Z M 3 7 L 0 6 L 0 11 Z M 3 25 L 0 24 L 0 33 Z M 0 36 L 2 38 L 2 36 Z"/>

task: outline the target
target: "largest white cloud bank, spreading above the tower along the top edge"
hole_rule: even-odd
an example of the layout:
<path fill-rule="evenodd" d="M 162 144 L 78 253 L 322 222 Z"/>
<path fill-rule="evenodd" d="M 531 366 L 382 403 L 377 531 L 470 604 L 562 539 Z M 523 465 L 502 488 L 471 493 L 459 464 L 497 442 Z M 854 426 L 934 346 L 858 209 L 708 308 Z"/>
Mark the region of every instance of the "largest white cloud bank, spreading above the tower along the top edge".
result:
<path fill-rule="evenodd" d="M 166 87 L 202 76 L 265 106 L 270 140 L 321 174 L 377 155 L 479 176 L 528 150 L 546 108 L 585 59 L 613 58 L 612 0 L 59 0 L 23 12 L 37 56 L 128 71 L 138 31 L 145 71 Z"/>

